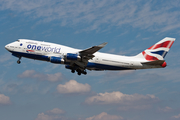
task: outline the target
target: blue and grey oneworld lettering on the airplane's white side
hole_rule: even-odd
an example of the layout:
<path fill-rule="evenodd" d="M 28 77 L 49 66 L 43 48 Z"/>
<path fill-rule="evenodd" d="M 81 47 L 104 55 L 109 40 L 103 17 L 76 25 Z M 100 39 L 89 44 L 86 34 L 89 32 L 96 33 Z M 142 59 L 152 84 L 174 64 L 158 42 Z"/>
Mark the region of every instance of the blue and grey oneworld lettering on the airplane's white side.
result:
<path fill-rule="evenodd" d="M 61 48 L 52 48 L 52 47 L 43 47 L 43 46 L 36 46 L 36 45 L 27 45 L 28 49 L 31 50 L 41 50 L 41 51 L 45 51 L 45 52 L 54 52 L 54 53 L 60 53 Z"/>

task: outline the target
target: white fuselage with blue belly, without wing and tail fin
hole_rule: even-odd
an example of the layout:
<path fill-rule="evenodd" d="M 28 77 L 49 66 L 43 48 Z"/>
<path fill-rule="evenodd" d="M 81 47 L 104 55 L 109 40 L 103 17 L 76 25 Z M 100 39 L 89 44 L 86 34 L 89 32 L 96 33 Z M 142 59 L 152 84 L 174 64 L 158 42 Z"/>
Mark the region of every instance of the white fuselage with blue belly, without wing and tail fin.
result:
<path fill-rule="evenodd" d="M 16 42 L 6 45 L 5 48 L 16 57 L 26 57 L 43 61 L 50 61 L 51 57 L 64 58 L 67 53 L 79 54 L 81 51 L 80 49 L 74 49 L 59 44 L 27 39 L 19 39 Z M 127 57 L 101 52 L 96 52 L 93 55 L 94 57 L 89 59 L 87 64 L 85 64 L 85 68 L 88 70 L 162 68 L 160 65 L 142 64 L 142 62 L 147 62 L 143 57 Z M 76 63 L 76 61 L 64 59 L 63 62 L 59 64 L 71 65 L 72 63 Z"/>

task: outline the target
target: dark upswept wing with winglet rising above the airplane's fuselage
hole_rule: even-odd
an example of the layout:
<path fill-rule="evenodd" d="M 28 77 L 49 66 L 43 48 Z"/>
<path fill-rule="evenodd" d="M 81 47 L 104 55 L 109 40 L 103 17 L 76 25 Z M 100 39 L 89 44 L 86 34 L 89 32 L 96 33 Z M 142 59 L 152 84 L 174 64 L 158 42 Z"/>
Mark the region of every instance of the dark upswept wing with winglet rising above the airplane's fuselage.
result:
<path fill-rule="evenodd" d="M 107 45 L 107 42 L 104 42 L 98 46 L 93 46 L 91 48 L 88 48 L 88 49 L 85 49 L 85 50 L 82 50 L 79 52 L 80 56 L 82 57 L 82 59 L 86 59 L 86 60 L 89 60 L 89 59 L 92 59 L 94 57 L 94 53 L 97 52 L 98 50 L 102 49 L 104 46 Z"/>

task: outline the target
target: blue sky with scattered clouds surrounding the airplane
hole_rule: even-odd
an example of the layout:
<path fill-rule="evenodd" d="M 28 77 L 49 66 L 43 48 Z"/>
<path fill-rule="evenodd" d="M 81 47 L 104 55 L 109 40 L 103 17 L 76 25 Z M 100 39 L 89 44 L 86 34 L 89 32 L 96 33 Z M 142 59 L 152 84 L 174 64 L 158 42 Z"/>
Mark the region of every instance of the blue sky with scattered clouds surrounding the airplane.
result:
<path fill-rule="evenodd" d="M 0 119 L 179 120 L 178 0 L 0 0 Z M 78 76 L 43 61 L 16 63 L 4 46 L 33 39 L 136 55 L 176 38 L 164 69 L 88 71 Z"/>

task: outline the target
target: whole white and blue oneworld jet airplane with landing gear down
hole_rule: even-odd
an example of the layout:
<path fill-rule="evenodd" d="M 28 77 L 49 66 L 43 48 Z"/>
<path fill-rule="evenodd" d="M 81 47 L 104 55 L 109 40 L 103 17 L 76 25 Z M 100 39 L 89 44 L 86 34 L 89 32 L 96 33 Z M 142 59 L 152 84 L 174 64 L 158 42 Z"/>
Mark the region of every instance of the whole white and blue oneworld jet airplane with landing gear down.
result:
<path fill-rule="evenodd" d="M 5 49 L 21 58 L 48 61 L 64 64 L 65 68 L 78 75 L 87 74 L 86 70 L 136 70 L 150 68 L 164 68 L 166 54 L 174 43 L 175 38 L 165 37 L 153 46 L 135 56 L 121 56 L 98 52 L 106 46 L 106 42 L 85 50 L 75 49 L 60 44 L 29 39 L 18 39 L 7 44 Z"/>

